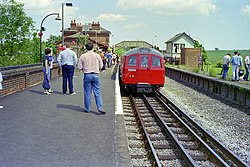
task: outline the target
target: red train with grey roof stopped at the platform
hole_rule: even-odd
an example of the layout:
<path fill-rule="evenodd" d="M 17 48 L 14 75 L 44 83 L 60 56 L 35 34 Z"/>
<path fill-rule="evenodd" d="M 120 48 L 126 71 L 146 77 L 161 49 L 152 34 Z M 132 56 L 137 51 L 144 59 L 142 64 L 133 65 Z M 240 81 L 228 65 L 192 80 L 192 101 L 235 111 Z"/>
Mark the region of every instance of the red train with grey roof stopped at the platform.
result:
<path fill-rule="evenodd" d="M 164 86 L 164 56 L 153 48 L 134 48 L 121 56 L 120 83 L 134 92 L 150 93 Z"/>

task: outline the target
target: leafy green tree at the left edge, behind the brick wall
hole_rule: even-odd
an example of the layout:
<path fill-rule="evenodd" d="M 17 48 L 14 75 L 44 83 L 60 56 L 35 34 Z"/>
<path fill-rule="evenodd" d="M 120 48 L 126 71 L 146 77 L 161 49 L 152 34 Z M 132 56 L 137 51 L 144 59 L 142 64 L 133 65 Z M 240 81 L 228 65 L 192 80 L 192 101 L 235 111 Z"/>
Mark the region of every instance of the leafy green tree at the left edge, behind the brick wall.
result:
<path fill-rule="evenodd" d="M 30 52 L 30 39 L 35 36 L 34 21 L 24 12 L 24 4 L 15 0 L 2 0 L 0 4 L 0 65 L 25 63 L 22 59 L 33 55 Z M 4 60 L 4 61 L 3 61 Z M 12 64 L 10 64 L 10 62 Z"/>

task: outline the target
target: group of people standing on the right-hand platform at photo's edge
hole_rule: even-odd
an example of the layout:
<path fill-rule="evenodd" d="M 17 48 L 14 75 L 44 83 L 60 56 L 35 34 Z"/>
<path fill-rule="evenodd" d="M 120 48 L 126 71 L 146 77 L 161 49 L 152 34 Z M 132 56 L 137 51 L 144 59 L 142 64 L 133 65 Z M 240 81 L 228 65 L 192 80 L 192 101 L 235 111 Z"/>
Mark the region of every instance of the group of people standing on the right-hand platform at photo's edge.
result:
<path fill-rule="evenodd" d="M 230 53 L 226 54 L 223 58 L 223 67 L 222 67 L 223 69 L 222 79 L 224 80 L 226 80 L 230 64 L 232 65 L 232 81 L 239 81 L 240 77 L 242 76 L 243 80 L 249 81 L 250 55 L 247 55 L 243 61 L 241 54 L 237 51 L 234 52 L 234 55 L 232 57 Z M 245 68 L 245 72 L 243 65 Z"/>

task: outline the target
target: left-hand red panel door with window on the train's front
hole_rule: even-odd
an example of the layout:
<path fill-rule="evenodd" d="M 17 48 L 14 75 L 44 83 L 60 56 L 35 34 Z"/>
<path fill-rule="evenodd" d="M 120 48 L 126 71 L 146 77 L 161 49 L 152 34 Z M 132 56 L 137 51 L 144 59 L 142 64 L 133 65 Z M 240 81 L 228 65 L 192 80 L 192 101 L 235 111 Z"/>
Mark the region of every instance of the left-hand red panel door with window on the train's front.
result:
<path fill-rule="evenodd" d="M 127 68 L 125 72 L 124 83 L 136 84 L 137 83 L 137 56 L 131 55 L 127 57 Z"/>

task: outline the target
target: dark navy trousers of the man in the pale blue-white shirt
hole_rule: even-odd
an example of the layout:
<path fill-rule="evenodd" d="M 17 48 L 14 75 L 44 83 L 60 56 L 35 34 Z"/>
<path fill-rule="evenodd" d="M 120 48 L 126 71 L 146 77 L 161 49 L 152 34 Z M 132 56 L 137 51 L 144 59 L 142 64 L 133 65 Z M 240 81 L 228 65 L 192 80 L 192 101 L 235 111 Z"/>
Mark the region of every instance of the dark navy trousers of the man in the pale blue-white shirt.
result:
<path fill-rule="evenodd" d="M 75 67 L 71 65 L 62 66 L 62 75 L 63 75 L 63 94 L 67 92 L 67 81 L 69 82 L 69 93 L 74 93 L 73 89 L 73 76 L 74 76 Z"/>

